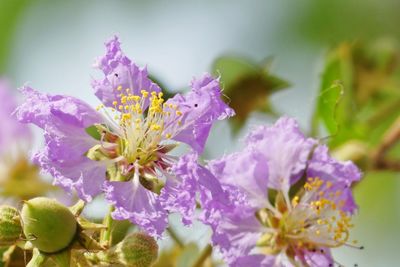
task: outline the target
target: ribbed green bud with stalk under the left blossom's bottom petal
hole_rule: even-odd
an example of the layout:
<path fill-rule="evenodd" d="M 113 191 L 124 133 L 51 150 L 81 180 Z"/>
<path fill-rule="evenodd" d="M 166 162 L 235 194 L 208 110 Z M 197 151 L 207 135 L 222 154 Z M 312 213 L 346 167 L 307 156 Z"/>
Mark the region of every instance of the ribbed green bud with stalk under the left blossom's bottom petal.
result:
<path fill-rule="evenodd" d="M 87 258 L 93 262 L 128 267 L 150 267 L 157 257 L 157 242 L 144 233 L 131 234 L 108 251 L 87 254 Z"/>

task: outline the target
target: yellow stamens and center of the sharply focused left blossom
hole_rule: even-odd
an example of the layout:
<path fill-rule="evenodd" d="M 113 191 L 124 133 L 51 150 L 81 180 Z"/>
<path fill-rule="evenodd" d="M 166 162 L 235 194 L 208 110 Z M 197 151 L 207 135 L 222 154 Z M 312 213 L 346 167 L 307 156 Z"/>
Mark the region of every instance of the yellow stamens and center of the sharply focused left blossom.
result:
<path fill-rule="evenodd" d="M 173 157 L 167 153 L 177 144 L 167 140 L 177 134 L 182 112 L 176 105 L 165 103 L 161 92 L 141 90 L 140 95 L 135 95 L 121 86 L 117 91 L 119 98 L 113 108 L 97 108 L 104 110 L 108 120 L 105 125 L 96 125 L 101 145 L 91 150 L 100 152 L 100 159 L 115 163 L 111 180 L 129 180 L 135 168 L 140 169 L 141 176 L 155 176 L 157 170 L 170 166 Z"/>

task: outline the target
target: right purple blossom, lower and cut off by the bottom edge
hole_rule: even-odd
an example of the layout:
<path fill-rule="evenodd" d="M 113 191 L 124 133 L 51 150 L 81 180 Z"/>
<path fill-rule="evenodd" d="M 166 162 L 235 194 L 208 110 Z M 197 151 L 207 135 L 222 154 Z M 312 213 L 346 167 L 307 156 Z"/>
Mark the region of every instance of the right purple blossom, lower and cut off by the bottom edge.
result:
<path fill-rule="evenodd" d="M 290 118 L 256 129 L 246 143 L 208 164 L 209 179 L 243 199 L 211 214 L 213 243 L 230 266 L 332 265 L 330 249 L 350 245 L 357 167 L 332 159 Z"/>

